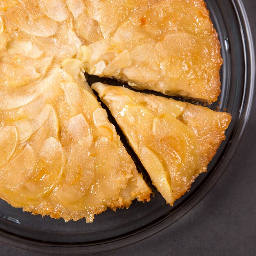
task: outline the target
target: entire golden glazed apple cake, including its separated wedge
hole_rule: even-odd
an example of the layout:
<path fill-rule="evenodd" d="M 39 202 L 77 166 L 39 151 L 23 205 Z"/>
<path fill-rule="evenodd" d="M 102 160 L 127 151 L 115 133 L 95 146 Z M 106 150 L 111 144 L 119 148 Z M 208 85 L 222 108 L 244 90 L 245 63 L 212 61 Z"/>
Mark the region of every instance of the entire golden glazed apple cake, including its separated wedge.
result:
<path fill-rule="evenodd" d="M 150 200 L 84 73 L 213 102 L 221 63 L 202 0 L 2 1 L 0 198 L 33 214 L 87 222 L 107 208 Z M 206 171 L 231 117 L 93 87 L 172 205 Z"/>

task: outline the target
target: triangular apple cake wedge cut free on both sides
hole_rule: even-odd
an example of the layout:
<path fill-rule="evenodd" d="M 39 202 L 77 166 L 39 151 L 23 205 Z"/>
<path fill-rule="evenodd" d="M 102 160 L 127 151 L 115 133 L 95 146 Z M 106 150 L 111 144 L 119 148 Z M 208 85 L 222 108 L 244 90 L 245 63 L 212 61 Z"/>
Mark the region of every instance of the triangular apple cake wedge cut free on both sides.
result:
<path fill-rule="evenodd" d="M 151 180 L 168 204 L 207 171 L 231 116 L 124 87 L 94 83 Z"/>

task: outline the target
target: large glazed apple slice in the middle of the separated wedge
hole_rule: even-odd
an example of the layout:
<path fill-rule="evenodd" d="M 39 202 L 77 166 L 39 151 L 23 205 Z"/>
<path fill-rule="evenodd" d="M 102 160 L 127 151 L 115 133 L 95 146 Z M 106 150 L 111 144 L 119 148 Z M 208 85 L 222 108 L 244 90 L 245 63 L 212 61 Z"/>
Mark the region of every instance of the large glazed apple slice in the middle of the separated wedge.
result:
<path fill-rule="evenodd" d="M 199 168 L 199 153 L 195 136 L 189 128 L 172 115 L 162 115 L 153 120 L 153 135 L 160 143 L 155 145 L 157 155 L 162 152 L 164 163 L 169 170 L 172 194 L 179 198 L 184 188 L 193 182 L 195 170 Z"/>

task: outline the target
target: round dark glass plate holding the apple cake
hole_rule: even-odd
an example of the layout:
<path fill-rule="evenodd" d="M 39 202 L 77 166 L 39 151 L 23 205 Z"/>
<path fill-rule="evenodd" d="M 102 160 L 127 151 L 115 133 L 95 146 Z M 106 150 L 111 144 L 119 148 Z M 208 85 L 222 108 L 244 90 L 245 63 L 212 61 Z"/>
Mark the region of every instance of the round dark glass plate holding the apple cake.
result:
<path fill-rule="evenodd" d="M 219 34 L 224 64 L 222 92 L 218 103 L 210 106 L 231 113 L 232 122 L 208 172 L 200 175 L 189 193 L 166 205 L 155 191 L 148 203 L 134 202 L 128 210 L 106 211 L 93 223 L 84 219 L 65 223 L 49 216 L 32 216 L 0 200 L 0 240 L 9 245 L 52 254 L 102 252 L 136 243 L 172 225 L 206 195 L 225 171 L 245 128 L 252 105 L 254 51 L 249 23 L 240 0 L 207 0 Z"/>

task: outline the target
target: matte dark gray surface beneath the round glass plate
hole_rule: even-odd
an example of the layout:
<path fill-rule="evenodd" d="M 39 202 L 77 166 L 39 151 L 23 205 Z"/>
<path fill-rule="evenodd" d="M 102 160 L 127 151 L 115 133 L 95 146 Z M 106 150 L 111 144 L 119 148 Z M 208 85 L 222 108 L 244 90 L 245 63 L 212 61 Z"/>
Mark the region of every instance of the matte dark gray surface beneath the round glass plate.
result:
<path fill-rule="evenodd" d="M 224 0 L 225 1 L 225 0 Z M 256 0 L 243 0 L 256 42 Z M 171 227 L 111 256 L 256 255 L 256 92 L 249 123 L 227 171 L 209 194 Z M 3 256 L 39 256 L 0 243 Z M 45 254 L 44 254 L 45 255 Z"/>

